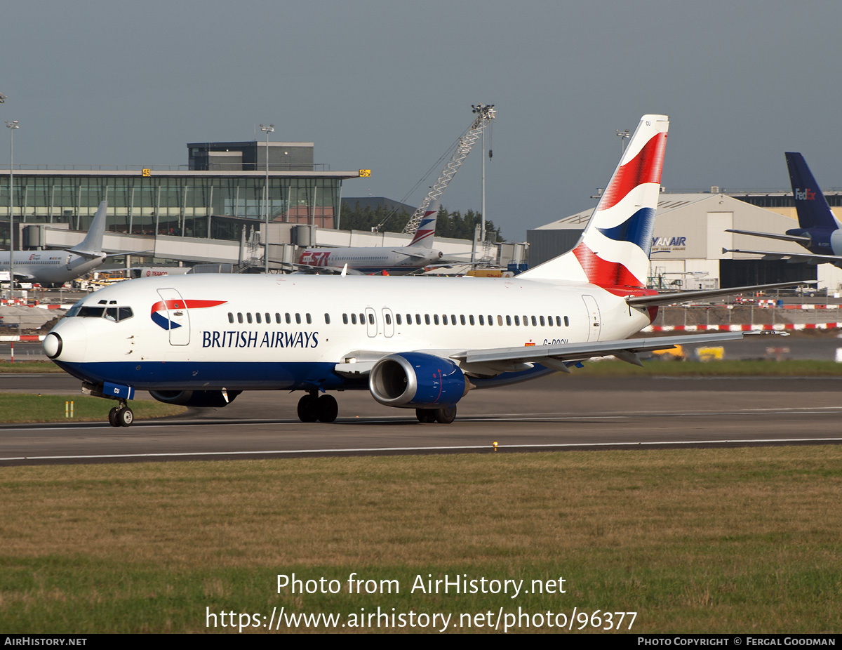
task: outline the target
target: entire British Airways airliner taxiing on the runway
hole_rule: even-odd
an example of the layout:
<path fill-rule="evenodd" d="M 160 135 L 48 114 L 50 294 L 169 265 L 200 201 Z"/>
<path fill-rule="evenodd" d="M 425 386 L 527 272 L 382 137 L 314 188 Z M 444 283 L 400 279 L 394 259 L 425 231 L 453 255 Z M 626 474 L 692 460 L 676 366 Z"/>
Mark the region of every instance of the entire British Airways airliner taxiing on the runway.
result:
<path fill-rule="evenodd" d="M 73 306 L 45 338 L 45 353 L 83 381 L 83 392 L 119 402 L 114 426 L 131 424 L 136 389 L 190 406 L 225 406 L 246 390 L 298 390 L 301 420 L 322 422 L 338 413 L 326 392 L 368 390 L 382 404 L 415 408 L 421 422 L 450 423 L 473 388 L 570 372 L 591 357 L 639 365 L 644 350 L 741 338 L 626 340 L 659 304 L 676 301 L 645 288 L 668 125 L 665 115 L 644 115 L 576 248 L 514 278 L 131 280 Z"/>

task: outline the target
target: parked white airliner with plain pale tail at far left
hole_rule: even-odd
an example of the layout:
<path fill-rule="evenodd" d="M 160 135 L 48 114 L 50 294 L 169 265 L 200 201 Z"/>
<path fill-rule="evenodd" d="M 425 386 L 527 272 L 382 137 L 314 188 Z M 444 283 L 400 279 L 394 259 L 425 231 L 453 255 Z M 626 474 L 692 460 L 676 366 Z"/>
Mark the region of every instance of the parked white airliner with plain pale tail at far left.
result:
<path fill-rule="evenodd" d="M 105 211 L 108 202 L 99 204 L 88 234 L 81 243 L 66 251 L 16 251 L 15 281 L 38 282 L 41 285 L 63 285 L 99 267 L 110 257 L 102 252 L 105 232 Z M 123 254 L 123 253 L 118 253 Z M 8 271 L 8 253 L 0 253 L 0 271 Z"/>

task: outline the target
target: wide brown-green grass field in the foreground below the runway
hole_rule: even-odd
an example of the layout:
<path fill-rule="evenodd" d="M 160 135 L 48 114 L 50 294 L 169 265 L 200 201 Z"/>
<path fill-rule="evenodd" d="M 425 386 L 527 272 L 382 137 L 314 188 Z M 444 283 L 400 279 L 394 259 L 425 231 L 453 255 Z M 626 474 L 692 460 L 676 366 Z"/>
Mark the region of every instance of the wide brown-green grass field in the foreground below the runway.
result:
<path fill-rule="evenodd" d="M 236 632 L 221 612 L 282 606 L 450 612 L 447 631 L 519 607 L 634 611 L 632 632 L 842 631 L 837 446 L 8 467 L 0 491 L 4 632 Z M 350 593 L 354 572 L 399 593 Z M 291 573 L 339 592 L 279 594 Z M 566 593 L 411 593 L 445 575 Z"/>

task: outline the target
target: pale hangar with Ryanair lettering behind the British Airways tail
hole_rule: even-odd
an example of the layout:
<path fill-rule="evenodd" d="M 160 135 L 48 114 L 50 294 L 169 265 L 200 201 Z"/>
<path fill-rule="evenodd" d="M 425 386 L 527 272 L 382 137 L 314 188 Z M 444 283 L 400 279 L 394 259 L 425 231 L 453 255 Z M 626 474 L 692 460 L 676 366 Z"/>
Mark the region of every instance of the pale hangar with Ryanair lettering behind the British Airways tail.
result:
<path fill-rule="evenodd" d="M 834 216 L 842 216 L 842 192 L 825 192 Z M 595 198 L 595 197 L 594 197 Z M 593 208 L 527 232 L 530 266 L 568 251 L 582 234 Z M 722 249 L 809 254 L 793 242 L 749 237 L 727 229 L 786 232 L 797 228 L 791 192 L 661 193 L 653 232 L 649 285 L 662 289 L 713 289 L 818 280 L 831 295 L 842 290 L 842 269 L 833 264 L 790 263 Z"/>

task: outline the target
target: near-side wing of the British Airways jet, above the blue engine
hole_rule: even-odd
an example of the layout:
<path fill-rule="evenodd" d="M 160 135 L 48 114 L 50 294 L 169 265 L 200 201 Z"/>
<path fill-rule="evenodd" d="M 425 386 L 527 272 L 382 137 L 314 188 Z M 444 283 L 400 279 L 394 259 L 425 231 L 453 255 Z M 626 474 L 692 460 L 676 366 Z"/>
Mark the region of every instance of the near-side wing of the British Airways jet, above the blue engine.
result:
<path fill-rule="evenodd" d="M 457 360 L 460 362 L 460 368 L 465 372 L 476 375 L 497 375 L 502 372 L 527 370 L 534 364 L 540 364 L 552 370 L 570 372 L 568 362 L 574 363 L 604 356 L 616 356 L 617 359 L 627 363 L 642 365 L 637 359 L 637 354 L 641 352 L 669 349 L 676 345 L 706 345 L 717 341 L 737 341 L 741 338 L 743 338 L 742 332 L 720 332 L 560 345 L 532 345 L 518 348 L 413 351 Z M 333 370 L 344 376 L 366 376 L 377 360 L 386 354 L 389 353 L 357 350 L 346 355 L 344 361 L 335 365 Z"/>

